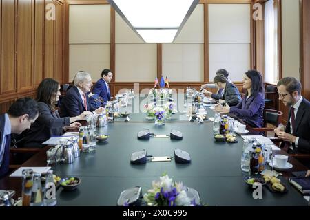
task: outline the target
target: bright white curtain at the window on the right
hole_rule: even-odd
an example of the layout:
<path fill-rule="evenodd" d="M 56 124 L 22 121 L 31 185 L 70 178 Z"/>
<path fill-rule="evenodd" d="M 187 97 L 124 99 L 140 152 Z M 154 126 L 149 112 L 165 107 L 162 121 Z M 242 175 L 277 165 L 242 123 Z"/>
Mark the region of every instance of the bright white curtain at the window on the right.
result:
<path fill-rule="evenodd" d="M 265 3 L 265 82 L 278 80 L 278 16 L 273 0 Z"/>

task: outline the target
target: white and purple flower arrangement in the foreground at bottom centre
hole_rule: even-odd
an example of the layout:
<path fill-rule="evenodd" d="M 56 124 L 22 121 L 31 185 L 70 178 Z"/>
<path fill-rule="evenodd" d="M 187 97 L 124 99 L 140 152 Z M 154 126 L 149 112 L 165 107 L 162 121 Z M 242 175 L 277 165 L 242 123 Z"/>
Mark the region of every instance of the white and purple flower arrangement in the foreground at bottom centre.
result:
<path fill-rule="evenodd" d="M 149 206 L 196 206 L 199 201 L 191 201 L 185 190 L 182 182 L 176 183 L 166 174 L 160 181 L 152 182 L 152 189 L 147 190 L 143 199 Z"/>

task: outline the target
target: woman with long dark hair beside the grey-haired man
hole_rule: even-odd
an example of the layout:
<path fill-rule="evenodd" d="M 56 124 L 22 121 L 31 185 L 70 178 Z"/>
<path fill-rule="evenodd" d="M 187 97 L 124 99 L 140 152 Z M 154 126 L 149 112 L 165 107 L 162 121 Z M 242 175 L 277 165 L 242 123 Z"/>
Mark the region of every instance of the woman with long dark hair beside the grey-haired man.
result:
<path fill-rule="evenodd" d="M 42 143 L 52 136 L 62 135 L 68 129 L 77 129 L 81 124 L 77 120 L 84 120 L 85 115 L 91 114 L 84 111 L 76 117 L 60 118 L 55 104 L 59 100 L 59 83 L 52 78 L 45 78 L 37 89 L 37 102 L 39 106 L 39 117 L 25 132 L 23 146 L 41 147 Z"/>

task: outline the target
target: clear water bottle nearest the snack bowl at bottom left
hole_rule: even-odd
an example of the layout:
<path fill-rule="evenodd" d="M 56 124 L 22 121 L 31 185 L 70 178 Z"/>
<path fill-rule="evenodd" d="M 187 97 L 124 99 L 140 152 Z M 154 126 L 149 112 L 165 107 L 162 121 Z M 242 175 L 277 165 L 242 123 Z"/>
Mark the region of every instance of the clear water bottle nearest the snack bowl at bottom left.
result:
<path fill-rule="evenodd" d="M 45 180 L 44 206 L 56 206 L 56 186 L 54 184 L 53 170 L 48 170 Z"/>

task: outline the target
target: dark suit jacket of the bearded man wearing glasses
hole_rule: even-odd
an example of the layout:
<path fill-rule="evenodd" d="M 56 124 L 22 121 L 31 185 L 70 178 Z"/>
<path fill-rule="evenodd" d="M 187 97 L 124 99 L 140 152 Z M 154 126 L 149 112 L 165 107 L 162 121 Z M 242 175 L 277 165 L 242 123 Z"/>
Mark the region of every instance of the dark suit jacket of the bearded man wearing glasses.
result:
<path fill-rule="evenodd" d="M 289 118 L 291 118 L 291 111 L 289 111 Z M 310 153 L 310 102 L 302 98 L 297 114 L 295 116 L 295 128 L 293 128 L 293 135 L 299 137 L 298 147 L 295 149 L 300 153 Z M 291 133 L 291 124 L 287 120 L 286 133 Z"/>

